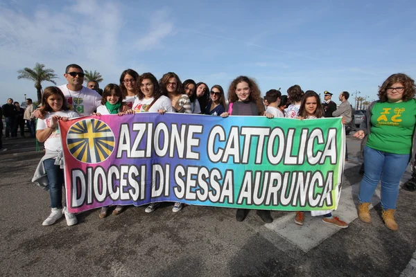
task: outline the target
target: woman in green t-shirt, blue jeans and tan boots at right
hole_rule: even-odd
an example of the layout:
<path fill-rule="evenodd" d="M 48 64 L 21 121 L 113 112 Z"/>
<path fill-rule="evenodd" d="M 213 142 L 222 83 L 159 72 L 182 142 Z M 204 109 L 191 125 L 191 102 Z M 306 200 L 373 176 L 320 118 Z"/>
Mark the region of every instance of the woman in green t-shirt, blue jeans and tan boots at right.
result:
<path fill-rule="evenodd" d="M 370 201 L 381 181 L 381 206 L 384 225 L 398 229 L 393 214 L 399 196 L 399 182 L 410 157 L 415 157 L 416 123 L 415 81 L 397 73 L 383 82 L 379 100 L 372 102 L 365 120 L 354 137 L 367 136 L 364 148 L 364 176 L 358 195 L 358 217 L 370 223 Z"/>

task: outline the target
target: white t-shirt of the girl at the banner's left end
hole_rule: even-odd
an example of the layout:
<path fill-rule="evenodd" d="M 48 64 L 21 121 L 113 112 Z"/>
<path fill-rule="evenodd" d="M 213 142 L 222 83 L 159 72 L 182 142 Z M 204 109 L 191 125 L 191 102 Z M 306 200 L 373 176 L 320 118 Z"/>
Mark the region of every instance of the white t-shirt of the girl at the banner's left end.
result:
<path fill-rule="evenodd" d="M 37 118 L 37 130 L 46 129 L 51 125 L 52 116 L 64 116 L 69 118 L 76 118 L 78 114 L 75 111 L 49 111 L 45 114 L 44 119 Z M 44 148 L 50 151 L 58 151 L 62 149 L 62 142 L 60 139 L 59 125 L 56 127 L 48 139 L 44 142 Z"/>

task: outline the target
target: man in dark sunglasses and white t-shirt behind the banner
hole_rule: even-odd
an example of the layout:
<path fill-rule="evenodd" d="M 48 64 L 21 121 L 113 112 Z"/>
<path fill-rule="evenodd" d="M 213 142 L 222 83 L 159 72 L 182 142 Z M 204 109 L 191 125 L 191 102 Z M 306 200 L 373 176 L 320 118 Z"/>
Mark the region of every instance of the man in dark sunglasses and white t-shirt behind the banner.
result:
<path fill-rule="evenodd" d="M 94 90 L 83 86 L 84 71 L 78 64 L 69 64 L 64 73 L 67 84 L 59 86 L 64 93 L 69 109 L 80 116 L 91 115 L 101 105 L 101 96 Z"/>

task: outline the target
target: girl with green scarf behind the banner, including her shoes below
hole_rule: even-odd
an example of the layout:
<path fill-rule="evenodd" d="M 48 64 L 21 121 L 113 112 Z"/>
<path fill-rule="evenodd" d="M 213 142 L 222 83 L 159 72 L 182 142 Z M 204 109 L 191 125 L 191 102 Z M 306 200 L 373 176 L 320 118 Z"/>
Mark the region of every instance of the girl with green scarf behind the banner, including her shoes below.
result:
<path fill-rule="evenodd" d="M 101 104 L 102 105 L 97 108 L 97 112 L 94 115 L 102 116 L 103 114 L 116 114 L 117 116 L 123 116 L 124 114 L 135 113 L 132 109 L 125 107 L 126 104 L 123 102 L 123 92 L 116 84 L 107 84 L 107 86 L 105 86 Z M 112 214 L 119 215 L 123 210 L 123 206 L 117 205 Z M 102 207 L 98 217 L 106 217 L 107 211 L 108 206 Z"/>

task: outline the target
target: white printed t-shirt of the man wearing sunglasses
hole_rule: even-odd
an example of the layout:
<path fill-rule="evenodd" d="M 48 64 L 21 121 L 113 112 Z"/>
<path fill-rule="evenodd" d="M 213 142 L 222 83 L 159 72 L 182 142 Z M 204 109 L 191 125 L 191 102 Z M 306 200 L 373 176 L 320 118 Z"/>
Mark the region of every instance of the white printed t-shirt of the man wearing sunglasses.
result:
<path fill-rule="evenodd" d="M 90 116 L 101 106 L 101 96 L 94 90 L 84 87 L 80 91 L 71 91 L 67 84 L 59 86 L 64 93 L 69 109 L 76 111 L 79 116 Z"/>

